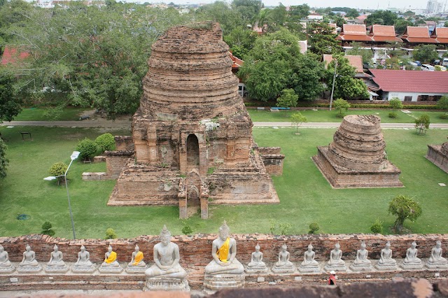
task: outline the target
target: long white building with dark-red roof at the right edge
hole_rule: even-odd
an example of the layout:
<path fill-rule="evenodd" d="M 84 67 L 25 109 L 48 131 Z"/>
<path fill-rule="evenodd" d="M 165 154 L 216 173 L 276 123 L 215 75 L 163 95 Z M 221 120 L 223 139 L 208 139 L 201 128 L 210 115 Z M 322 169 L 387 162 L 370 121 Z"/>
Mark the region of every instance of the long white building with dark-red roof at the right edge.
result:
<path fill-rule="evenodd" d="M 448 94 L 448 71 L 370 69 L 369 89 L 383 100 L 438 101 Z"/>

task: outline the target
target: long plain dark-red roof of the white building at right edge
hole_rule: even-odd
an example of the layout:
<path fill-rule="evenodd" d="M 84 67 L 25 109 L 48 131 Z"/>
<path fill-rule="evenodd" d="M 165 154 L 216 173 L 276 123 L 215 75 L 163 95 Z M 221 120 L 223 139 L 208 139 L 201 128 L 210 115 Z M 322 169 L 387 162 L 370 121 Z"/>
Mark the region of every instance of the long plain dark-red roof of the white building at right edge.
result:
<path fill-rule="evenodd" d="M 395 71 L 370 69 L 373 80 L 386 92 L 448 93 L 448 71 Z"/>

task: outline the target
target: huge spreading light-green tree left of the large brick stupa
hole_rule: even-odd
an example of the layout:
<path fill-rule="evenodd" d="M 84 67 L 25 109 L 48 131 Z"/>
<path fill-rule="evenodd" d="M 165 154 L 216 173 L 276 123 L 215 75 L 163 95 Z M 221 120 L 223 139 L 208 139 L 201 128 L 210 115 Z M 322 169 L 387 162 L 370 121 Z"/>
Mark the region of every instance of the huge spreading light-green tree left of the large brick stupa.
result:
<path fill-rule="evenodd" d="M 135 4 L 24 10 L 25 25 L 6 30 L 17 48 L 29 53 L 12 70 L 27 94 L 57 92 L 56 104 L 104 109 L 113 118 L 134 113 L 142 94 L 151 44 L 167 28 L 187 22 L 174 8 Z"/>

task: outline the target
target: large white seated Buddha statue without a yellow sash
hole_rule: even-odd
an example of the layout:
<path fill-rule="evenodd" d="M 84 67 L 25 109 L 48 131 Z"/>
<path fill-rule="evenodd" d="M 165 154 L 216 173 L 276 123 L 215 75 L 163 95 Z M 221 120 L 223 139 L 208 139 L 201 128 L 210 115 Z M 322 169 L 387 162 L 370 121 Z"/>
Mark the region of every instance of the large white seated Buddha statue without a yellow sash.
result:
<path fill-rule="evenodd" d="M 187 271 L 181 267 L 179 260 L 179 246 L 171 242 L 171 232 L 164 225 L 160 232 L 160 243 L 155 244 L 153 249 L 154 263 L 146 269 L 146 287 L 158 290 L 160 281 L 169 284 L 172 290 L 189 290 L 186 280 Z"/>

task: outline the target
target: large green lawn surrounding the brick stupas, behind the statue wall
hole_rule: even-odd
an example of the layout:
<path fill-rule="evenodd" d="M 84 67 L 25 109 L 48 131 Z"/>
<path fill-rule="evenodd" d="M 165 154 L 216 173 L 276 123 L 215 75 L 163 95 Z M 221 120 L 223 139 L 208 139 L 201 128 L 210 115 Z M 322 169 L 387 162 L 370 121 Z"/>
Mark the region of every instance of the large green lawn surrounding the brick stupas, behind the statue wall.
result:
<path fill-rule="evenodd" d="M 50 166 L 68 163 L 78 140 L 100 134 L 94 129 L 27 127 L 34 141 L 22 141 L 20 127 L 0 131 L 8 139 L 10 166 L 8 177 L 0 181 L 0 236 L 19 236 L 41 232 L 50 220 L 56 235 L 71 238 L 66 191 L 55 181 L 45 181 Z M 281 146 L 286 155 L 283 176 L 274 177 L 281 203 L 260 206 L 210 206 L 209 220 L 195 215 L 179 220 L 176 206 L 106 206 L 115 181 L 83 181 L 83 171 L 105 171 L 105 164 L 73 163 L 69 172 L 69 191 L 78 238 L 103 238 L 111 227 L 120 238 L 158 234 L 167 224 L 173 234 L 181 234 L 184 225 L 195 233 L 216 233 L 222 220 L 232 232 L 268 233 L 269 219 L 292 225 L 289 234 L 303 234 L 311 222 L 318 222 L 321 233 L 368 233 L 376 218 L 384 226 L 393 224 L 387 214 L 388 202 L 397 194 L 414 197 L 423 206 L 423 215 L 405 226 L 416 233 L 448 233 L 448 174 L 423 157 L 426 144 L 446 141 L 447 130 L 430 129 L 416 136 L 414 129 L 386 129 L 388 158 L 402 170 L 403 188 L 333 190 L 318 171 L 311 156 L 316 146 L 332 140 L 335 129 L 295 130 L 253 129 L 259 146 Z M 130 132 L 112 132 L 127 134 Z M 16 220 L 18 214 L 31 215 Z M 276 229 L 279 233 L 279 229 Z M 386 231 L 388 232 L 388 231 Z"/>

